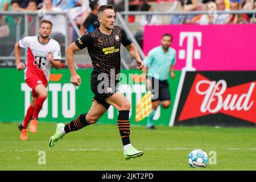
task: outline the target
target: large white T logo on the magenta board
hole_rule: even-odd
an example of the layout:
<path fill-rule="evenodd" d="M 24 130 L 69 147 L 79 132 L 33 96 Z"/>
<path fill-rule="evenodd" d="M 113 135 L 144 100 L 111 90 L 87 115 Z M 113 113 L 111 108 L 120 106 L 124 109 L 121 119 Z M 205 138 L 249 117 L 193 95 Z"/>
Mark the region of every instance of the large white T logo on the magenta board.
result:
<path fill-rule="evenodd" d="M 186 59 L 186 65 L 183 68 L 185 71 L 195 71 L 196 68 L 193 67 L 192 62 L 194 59 L 201 58 L 201 51 L 200 49 L 195 49 L 193 52 L 193 43 L 194 37 L 197 39 L 198 46 L 201 47 L 202 43 L 202 32 L 180 32 L 180 42 L 179 46 L 183 46 L 183 42 L 185 38 L 187 39 L 187 56 L 185 57 L 186 51 L 185 49 L 179 50 L 179 59 Z"/>

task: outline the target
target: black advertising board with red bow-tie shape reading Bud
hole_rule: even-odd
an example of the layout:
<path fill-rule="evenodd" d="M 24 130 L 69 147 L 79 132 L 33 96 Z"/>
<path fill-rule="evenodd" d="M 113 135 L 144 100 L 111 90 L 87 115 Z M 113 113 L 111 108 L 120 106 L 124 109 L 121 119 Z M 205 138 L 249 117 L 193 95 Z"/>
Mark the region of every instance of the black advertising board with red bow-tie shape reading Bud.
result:
<path fill-rule="evenodd" d="M 255 126 L 255 72 L 186 72 L 174 125 Z"/>

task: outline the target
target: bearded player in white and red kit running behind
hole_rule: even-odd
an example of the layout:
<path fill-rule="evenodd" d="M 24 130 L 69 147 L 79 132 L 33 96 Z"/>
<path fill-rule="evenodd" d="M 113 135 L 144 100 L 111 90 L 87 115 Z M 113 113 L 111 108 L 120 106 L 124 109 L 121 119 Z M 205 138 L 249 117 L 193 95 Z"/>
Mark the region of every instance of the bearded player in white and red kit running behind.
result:
<path fill-rule="evenodd" d="M 32 101 L 23 122 L 19 125 L 20 139 L 27 140 L 27 125 L 31 121 L 30 131 L 36 133 L 38 114 L 47 98 L 46 86 L 49 81 L 51 65 L 60 68 L 60 44 L 50 39 L 52 23 L 42 20 L 39 36 L 26 36 L 15 44 L 16 69 L 24 69 L 24 80 L 32 89 Z M 26 65 L 20 62 L 20 48 L 27 48 Z"/>

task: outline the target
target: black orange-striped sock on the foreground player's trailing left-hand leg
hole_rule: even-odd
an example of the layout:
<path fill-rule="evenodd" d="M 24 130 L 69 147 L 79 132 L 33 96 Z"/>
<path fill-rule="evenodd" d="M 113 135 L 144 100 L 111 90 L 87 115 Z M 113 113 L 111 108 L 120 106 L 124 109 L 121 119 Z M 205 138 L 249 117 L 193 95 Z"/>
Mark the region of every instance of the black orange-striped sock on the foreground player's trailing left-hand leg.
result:
<path fill-rule="evenodd" d="M 79 115 L 79 117 L 77 117 L 76 119 L 74 119 L 73 121 L 65 125 L 64 127 L 65 133 L 69 133 L 71 131 L 77 131 L 87 125 L 90 125 L 88 122 L 86 122 L 86 118 L 85 118 L 86 114 Z"/>

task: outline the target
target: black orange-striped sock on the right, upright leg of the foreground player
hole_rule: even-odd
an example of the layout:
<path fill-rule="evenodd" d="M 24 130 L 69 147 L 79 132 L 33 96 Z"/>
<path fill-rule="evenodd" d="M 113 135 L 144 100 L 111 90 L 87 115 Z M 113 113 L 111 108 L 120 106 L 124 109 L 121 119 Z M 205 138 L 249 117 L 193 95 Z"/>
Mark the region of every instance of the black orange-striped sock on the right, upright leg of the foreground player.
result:
<path fill-rule="evenodd" d="M 123 146 L 131 143 L 129 113 L 130 110 L 119 110 L 117 118 L 117 126 L 121 135 Z"/>

